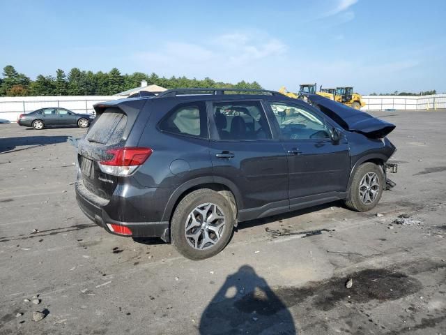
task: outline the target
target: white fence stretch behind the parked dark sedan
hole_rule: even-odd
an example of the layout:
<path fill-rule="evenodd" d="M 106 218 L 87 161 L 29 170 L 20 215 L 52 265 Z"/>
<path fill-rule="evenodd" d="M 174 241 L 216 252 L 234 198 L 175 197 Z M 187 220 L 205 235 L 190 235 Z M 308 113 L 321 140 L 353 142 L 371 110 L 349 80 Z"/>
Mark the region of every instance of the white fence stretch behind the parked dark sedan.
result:
<path fill-rule="evenodd" d="M 0 97 L 0 119 L 17 121 L 21 113 L 43 107 L 62 107 L 75 113 L 91 114 L 95 103 L 116 100 L 117 96 L 17 96 Z"/>

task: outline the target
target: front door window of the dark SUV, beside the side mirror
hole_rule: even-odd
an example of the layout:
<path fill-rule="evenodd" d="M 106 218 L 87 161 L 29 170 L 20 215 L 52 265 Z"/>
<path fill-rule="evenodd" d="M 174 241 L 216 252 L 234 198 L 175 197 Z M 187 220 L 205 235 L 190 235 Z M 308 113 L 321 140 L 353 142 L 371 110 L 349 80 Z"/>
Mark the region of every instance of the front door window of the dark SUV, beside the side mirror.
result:
<path fill-rule="evenodd" d="M 325 121 L 300 105 L 270 103 L 285 140 L 330 138 Z"/>

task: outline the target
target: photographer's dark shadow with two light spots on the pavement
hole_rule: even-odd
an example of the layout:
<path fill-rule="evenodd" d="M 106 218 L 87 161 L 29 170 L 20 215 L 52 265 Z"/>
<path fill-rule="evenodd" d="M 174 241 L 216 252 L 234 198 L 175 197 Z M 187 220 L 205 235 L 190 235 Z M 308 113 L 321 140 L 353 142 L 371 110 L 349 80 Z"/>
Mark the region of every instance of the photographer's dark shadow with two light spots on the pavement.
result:
<path fill-rule="evenodd" d="M 226 278 L 208 304 L 200 334 L 297 334 L 284 302 L 249 265 Z"/>

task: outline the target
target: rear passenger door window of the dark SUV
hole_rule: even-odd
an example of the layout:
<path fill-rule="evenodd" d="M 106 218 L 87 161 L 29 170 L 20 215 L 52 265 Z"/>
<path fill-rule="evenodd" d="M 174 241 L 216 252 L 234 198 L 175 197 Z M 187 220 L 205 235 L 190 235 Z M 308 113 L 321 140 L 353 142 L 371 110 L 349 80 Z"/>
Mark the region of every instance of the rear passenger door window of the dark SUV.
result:
<path fill-rule="evenodd" d="M 259 101 L 214 103 L 213 116 L 220 140 L 272 138 L 265 111 Z"/>

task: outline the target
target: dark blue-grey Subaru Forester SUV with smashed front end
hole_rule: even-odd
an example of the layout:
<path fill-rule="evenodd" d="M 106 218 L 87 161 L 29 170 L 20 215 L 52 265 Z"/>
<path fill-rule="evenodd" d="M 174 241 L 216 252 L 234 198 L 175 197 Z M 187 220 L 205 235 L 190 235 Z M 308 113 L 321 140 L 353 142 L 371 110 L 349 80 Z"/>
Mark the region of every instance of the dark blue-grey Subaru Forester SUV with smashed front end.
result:
<path fill-rule="evenodd" d="M 192 260 L 239 222 L 344 200 L 369 211 L 392 186 L 395 126 L 309 94 L 183 89 L 95 105 L 76 198 L 112 234 L 161 237 Z M 246 90 L 243 90 L 246 91 Z M 200 94 L 203 93 L 203 94 Z"/>

